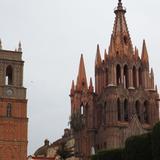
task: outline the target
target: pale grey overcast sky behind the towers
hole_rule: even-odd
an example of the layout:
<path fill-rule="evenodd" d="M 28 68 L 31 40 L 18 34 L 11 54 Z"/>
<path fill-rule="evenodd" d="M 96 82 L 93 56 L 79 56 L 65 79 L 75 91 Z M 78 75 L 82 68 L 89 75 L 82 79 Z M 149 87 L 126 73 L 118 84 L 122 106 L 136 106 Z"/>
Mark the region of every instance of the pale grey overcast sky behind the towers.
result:
<path fill-rule="evenodd" d="M 0 0 L 0 38 L 4 49 L 23 47 L 27 88 L 28 153 L 53 142 L 67 127 L 69 91 L 80 54 L 87 77 L 94 77 L 96 44 L 108 49 L 118 0 Z M 150 65 L 160 87 L 160 1 L 122 0 L 133 45 L 146 39 Z"/>

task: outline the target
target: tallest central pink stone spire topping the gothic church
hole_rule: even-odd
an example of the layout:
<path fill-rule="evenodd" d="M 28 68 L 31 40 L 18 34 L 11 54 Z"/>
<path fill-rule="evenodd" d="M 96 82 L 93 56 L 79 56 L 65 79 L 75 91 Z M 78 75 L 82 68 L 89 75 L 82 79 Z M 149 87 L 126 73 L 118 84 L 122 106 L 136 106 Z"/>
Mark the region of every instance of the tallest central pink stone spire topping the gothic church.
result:
<path fill-rule="evenodd" d="M 115 8 L 114 13 L 116 17 L 110 46 L 114 47 L 115 53 L 110 51 L 110 54 L 131 55 L 133 47 L 125 18 L 126 9 L 123 7 L 121 0 L 118 0 L 118 6 Z"/>

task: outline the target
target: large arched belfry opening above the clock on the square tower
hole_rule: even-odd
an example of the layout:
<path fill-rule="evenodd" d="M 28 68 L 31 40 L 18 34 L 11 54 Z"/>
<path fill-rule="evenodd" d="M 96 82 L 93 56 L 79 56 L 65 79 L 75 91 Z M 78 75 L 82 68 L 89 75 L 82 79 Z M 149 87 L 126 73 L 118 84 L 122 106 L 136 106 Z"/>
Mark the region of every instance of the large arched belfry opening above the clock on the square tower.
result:
<path fill-rule="evenodd" d="M 5 84 L 12 85 L 13 83 L 13 69 L 11 66 L 6 68 L 6 77 L 5 77 Z"/>

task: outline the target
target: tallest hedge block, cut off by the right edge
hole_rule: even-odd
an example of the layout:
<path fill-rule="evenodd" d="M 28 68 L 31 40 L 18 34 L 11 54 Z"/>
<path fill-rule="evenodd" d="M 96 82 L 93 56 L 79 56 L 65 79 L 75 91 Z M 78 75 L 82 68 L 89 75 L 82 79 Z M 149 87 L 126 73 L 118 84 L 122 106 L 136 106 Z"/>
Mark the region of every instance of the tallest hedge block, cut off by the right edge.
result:
<path fill-rule="evenodd" d="M 152 131 L 152 155 L 153 160 L 160 160 L 160 122 L 158 122 Z"/>

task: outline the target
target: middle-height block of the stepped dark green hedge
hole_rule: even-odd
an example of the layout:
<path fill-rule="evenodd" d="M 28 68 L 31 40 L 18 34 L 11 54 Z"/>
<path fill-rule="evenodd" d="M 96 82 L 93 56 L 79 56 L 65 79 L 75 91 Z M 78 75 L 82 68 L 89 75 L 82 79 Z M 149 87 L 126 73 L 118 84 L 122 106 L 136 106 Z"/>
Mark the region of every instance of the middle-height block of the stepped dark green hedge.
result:
<path fill-rule="evenodd" d="M 152 160 L 151 133 L 128 138 L 125 156 L 127 160 Z"/>

